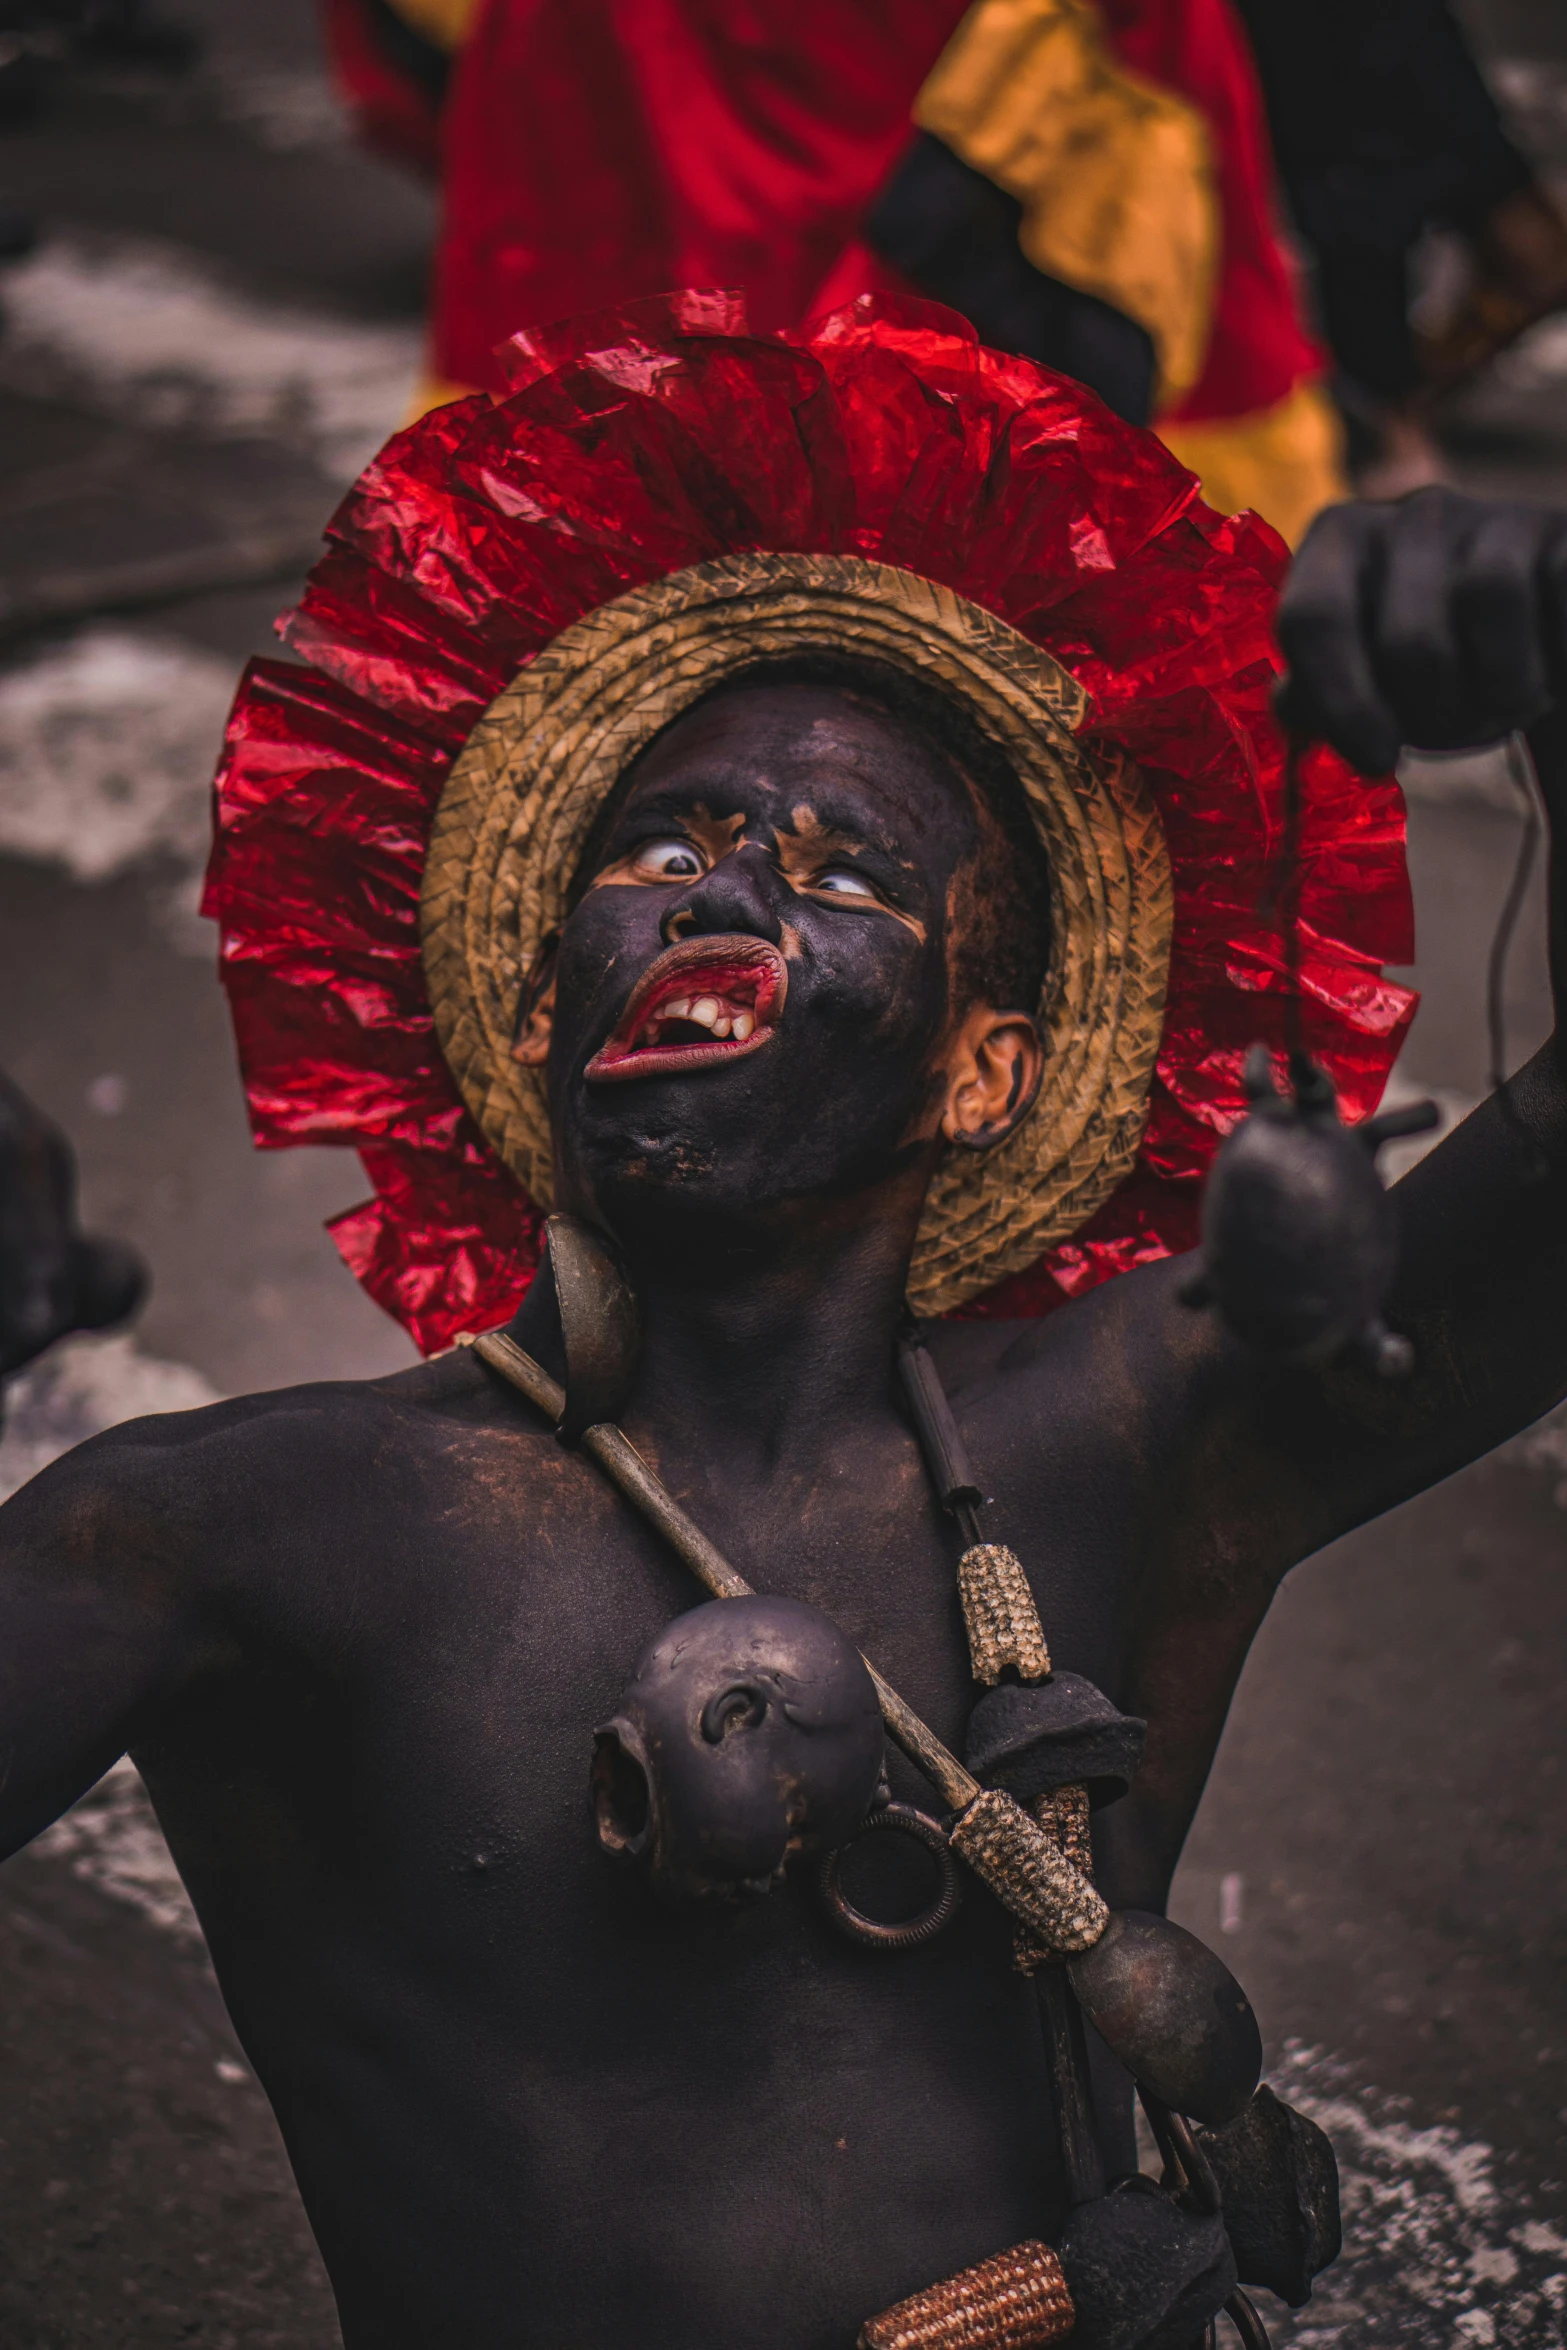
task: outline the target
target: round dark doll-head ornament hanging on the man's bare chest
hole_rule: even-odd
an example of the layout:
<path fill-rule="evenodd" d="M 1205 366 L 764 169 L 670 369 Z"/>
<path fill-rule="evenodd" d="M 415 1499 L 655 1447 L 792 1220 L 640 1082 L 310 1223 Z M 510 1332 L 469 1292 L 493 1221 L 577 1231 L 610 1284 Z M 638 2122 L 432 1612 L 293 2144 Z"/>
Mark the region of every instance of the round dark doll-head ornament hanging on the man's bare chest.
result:
<path fill-rule="evenodd" d="M 865 1819 L 883 1762 L 876 1685 L 820 1607 L 707 1600 L 594 1730 L 599 1842 L 674 1899 L 761 1894 Z"/>

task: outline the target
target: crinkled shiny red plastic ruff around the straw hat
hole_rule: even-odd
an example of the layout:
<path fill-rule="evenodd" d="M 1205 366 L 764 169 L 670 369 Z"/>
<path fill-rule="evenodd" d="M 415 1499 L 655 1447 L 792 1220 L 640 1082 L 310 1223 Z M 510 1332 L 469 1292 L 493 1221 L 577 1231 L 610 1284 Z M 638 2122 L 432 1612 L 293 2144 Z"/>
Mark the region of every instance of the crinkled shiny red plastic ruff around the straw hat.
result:
<path fill-rule="evenodd" d="M 984 350 L 949 310 L 867 296 L 801 336 L 679 294 L 517 336 L 512 390 L 399 432 L 343 501 L 284 637 L 254 663 L 218 768 L 204 907 L 256 1142 L 348 1142 L 374 1184 L 338 1248 L 423 1349 L 503 1321 L 540 1215 L 435 1041 L 418 886 L 446 771 L 486 703 L 608 597 L 742 548 L 834 550 L 944 580 L 1088 689 L 1175 867 L 1170 1010 L 1137 1168 L 1099 1215 L 970 1314 L 1043 1314 L 1191 1246 L 1243 1109 L 1247 1043 L 1283 1043 L 1262 912 L 1283 743 L 1269 714 L 1285 548 L 1090 392 Z M 1403 799 L 1304 761 L 1306 1041 L 1374 1109 L 1414 1010 Z"/>

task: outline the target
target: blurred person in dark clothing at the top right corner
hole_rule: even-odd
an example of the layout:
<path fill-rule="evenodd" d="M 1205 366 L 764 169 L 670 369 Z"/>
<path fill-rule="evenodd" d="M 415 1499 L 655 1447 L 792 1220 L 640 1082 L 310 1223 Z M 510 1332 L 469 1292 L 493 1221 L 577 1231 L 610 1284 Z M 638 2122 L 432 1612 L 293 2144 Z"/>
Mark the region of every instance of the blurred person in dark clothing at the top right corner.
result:
<path fill-rule="evenodd" d="M 1240 0 L 1358 484 L 1447 479 L 1431 409 L 1567 306 L 1567 219 L 1501 125 L 1447 0 Z M 1421 261 L 1452 240 L 1417 327 Z M 1442 301 L 1445 291 L 1445 301 Z"/>

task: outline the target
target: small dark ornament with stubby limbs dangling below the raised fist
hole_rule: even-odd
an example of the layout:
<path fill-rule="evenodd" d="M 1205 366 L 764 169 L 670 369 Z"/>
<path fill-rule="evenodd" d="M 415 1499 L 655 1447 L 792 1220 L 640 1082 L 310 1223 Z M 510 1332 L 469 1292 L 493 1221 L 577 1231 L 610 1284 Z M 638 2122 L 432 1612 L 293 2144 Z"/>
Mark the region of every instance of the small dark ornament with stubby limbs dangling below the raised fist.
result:
<path fill-rule="evenodd" d="M 1381 1318 L 1398 1269 L 1398 1210 L 1377 1149 L 1438 1123 L 1435 1102 L 1344 1126 L 1332 1079 L 1292 1058 L 1294 1093 L 1273 1083 L 1264 1043 L 1245 1058 L 1247 1116 L 1224 1140 L 1203 1191 L 1203 1267 L 1182 1297 L 1212 1304 L 1276 1363 L 1327 1363 L 1353 1349 L 1384 1377 L 1414 1351 Z"/>

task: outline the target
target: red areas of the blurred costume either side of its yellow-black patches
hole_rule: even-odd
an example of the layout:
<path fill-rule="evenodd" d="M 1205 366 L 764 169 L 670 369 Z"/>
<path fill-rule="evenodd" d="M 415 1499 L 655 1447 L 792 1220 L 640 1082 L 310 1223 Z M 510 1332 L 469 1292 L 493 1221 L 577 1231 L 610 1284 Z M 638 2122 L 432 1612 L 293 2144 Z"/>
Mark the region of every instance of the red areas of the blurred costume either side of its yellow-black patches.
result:
<path fill-rule="evenodd" d="M 343 0 L 338 0 L 343 5 Z M 500 385 L 536 320 L 738 287 L 761 331 L 890 289 L 855 242 L 961 0 L 486 0 L 446 106 L 432 369 Z M 1229 0 L 1107 0 L 1128 66 L 1203 110 L 1224 256 L 1182 416 L 1320 371 L 1276 235 L 1257 75 Z"/>

